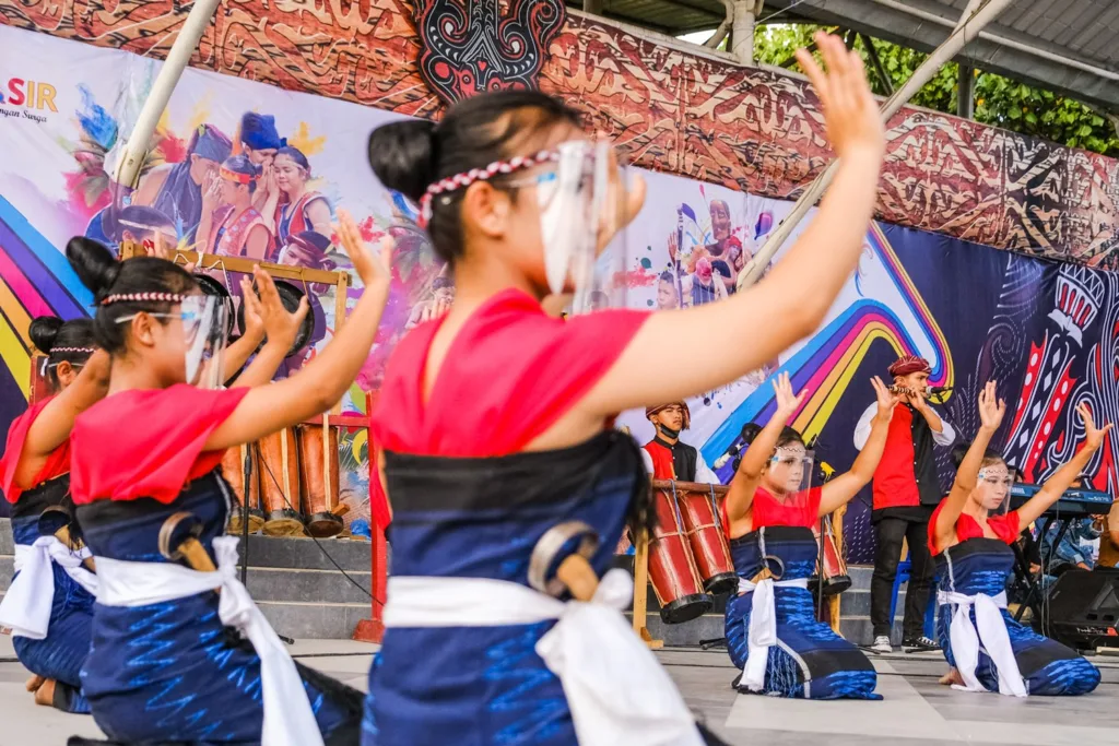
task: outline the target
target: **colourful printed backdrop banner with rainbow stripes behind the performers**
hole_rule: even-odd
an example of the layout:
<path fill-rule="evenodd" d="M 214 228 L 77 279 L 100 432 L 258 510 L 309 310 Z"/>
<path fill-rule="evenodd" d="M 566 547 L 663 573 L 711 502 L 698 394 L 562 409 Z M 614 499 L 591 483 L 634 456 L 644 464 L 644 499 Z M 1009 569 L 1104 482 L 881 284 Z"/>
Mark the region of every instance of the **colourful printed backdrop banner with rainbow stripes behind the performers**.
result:
<path fill-rule="evenodd" d="M 43 62 L 31 70 L 27 59 Z M 74 235 L 115 245 L 123 237 L 162 233 L 181 246 L 218 255 L 258 254 L 345 270 L 331 227 L 338 208 L 358 219 L 368 240 L 391 232 L 398 245 L 393 293 L 378 343 L 345 402 L 351 412 L 363 410 L 365 393 L 376 390 L 393 344 L 425 304 L 436 293 L 453 292 L 415 227 L 415 207 L 384 189 L 365 164 L 369 132 L 396 115 L 188 69 L 160 122 L 139 189 L 125 204 L 111 206 L 106 174 L 159 64 L 4 27 L 0 63 L 4 76 L 11 76 L 0 79 L 0 138 L 6 143 L 0 163 L 0 426 L 26 407 L 30 319 L 90 312 L 90 294 L 65 261 L 66 242 Z M 279 140 L 285 142 L 271 142 Z M 254 192 L 255 214 L 238 214 L 242 205 L 225 201 L 227 193 L 209 195 L 209 188 L 218 161 L 227 155 L 261 159 L 254 143 L 257 149 L 278 144 L 294 150 L 281 149 L 264 162 L 271 163 L 273 176 L 265 174 L 260 189 L 274 199 Z M 666 174 L 646 172 L 645 178 L 647 204 L 629 230 L 636 248 L 628 257 L 628 299 L 638 308 L 695 305 L 730 294 L 737 274 L 791 207 Z M 220 237 L 213 225 L 209 232 L 197 225 L 204 213 L 211 224 L 220 221 L 231 207 L 234 217 Z M 247 228 L 238 227 L 237 217 L 245 214 Z M 820 459 L 841 472 L 856 455 L 855 423 L 874 398 L 869 378 L 884 376 L 897 356 L 915 353 L 930 361 L 932 385 L 952 387 L 940 409 L 961 438 L 978 426 L 979 386 L 997 378 L 1012 414 L 996 444 L 1005 446 L 1028 479 L 1042 480 L 1083 438 L 1073 415 L 1076 403 L 1087 400 L 1102 418 L 1119 419 L 1117 283 L 1103 272 L 874 225 L 858 272 L 820 329 L 761 370 L 689 400 L 692 429 L 683 437 L 716 464 L 740 444 L 743 425 L 768 421 L 774 408 L 768 378 L 787 370 L 794 386 L 808 391 L 791 424 L 806 438 L 817 438 Z M 321 287 L 302 290 L 314 301 L 314 341 L 281 375 L 311 359 L 333 328 L 332 295 Z M 350 303 L 360 292 L 351 289 Z M 725 344 L 750 344 L 764 331 L 746 324 L 721 333 Z M 684 346 L 684 340 L 664 340 L 664 365 L 676 365 Z M 699 360 L 702 351 L 689 350 L 687 357 Z M 627 413 L 620 424 L 630 426 L 639 442 L 651 437 L 642 413 Z M 349 519 L 364 519 L 365 433 L 347 435 L 342 450 Z M 1117 455 L 1109 438 L 1091 464 L 1096 487 L 1115 490 Z M 947 450 L 938 448 L 938 462 L 947 488 Z M 728 481 L 730 461 L 716 473 Z M 868 503 L 869 489 L 848 513 L 849 557 L 856 561 L 873 553 Z"/>

